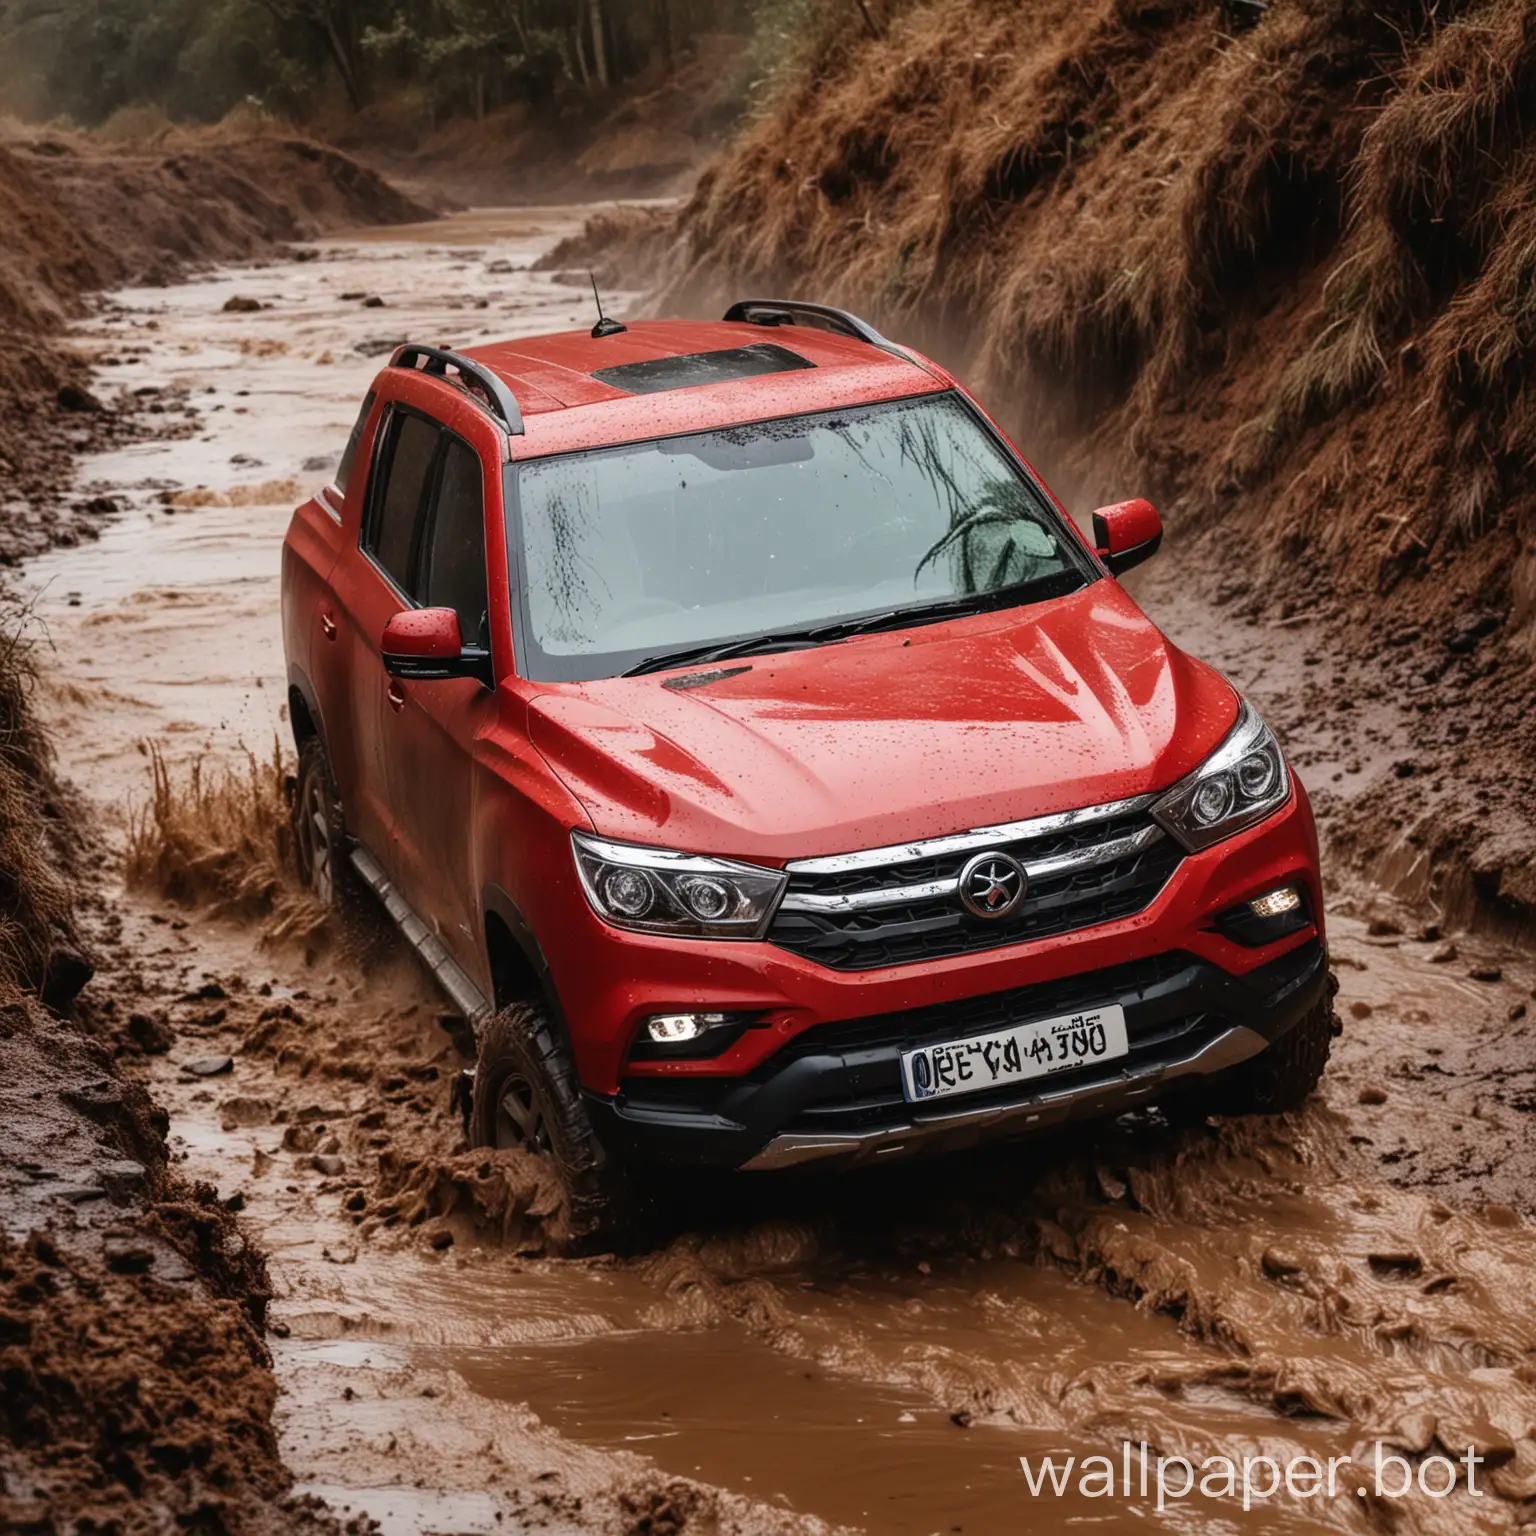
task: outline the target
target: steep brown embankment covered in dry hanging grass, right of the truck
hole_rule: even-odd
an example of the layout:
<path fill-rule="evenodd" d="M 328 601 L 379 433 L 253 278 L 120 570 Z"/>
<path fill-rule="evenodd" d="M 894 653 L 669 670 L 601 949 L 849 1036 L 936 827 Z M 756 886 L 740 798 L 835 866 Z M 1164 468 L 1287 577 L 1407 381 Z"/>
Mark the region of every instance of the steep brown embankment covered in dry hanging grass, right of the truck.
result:
<path fill-rule="evenodd" d="M 1536 6 L 886 9 L 610 263 L 659 257 L 667 309 L 868 312 L 1077 508 L 1157 496 L 1181 579 L 1322 619 L 1396 711 L 1335 848 L 1528 919 Z"/>

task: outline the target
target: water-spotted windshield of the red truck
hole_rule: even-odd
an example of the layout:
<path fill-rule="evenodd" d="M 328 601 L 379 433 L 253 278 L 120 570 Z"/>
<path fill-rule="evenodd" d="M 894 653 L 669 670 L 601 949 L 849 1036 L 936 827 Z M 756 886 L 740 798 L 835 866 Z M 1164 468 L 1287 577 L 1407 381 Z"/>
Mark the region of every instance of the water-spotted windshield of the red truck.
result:
<path fill-rule="evenodd" d="M 1098 574 L 957 395 L 525 459 L 508 476 L 519 671 L 535 680 L 859 616 L 920 622 L 955 599 L 1028 602 Z"/>

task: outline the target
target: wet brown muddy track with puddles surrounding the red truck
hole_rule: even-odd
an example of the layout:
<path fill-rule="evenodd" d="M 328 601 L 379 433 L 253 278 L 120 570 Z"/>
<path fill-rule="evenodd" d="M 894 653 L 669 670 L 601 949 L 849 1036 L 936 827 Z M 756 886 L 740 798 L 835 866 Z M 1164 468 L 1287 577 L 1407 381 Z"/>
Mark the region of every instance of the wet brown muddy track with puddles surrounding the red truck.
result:
<path fill-rule="evenodd" d="M 197 409 L 189 435 L 88 464 L 129 510 L 26 571 L 61 766 L 111 836 L 143 802 L 146 739 L 184 763 L 286 734 L 276 551 L 300 487 L 393 343 L 585 321 L 579 290 L 525 270 L 574 218 L 327 243 L 118 293 L 84 329 L 108 381 L 181 382 Z M 269 307 L 224 312 L 235 295 Z M 1347 731 L 1298 710 L 1304 624 L 1230 633 L 1178 594 L 1177 559 L 1154 616 L 1272 717 L 1303 716 L 1312 782 L 1349 793 L 1390 760 L 1379 710 Z M 272 1255 L 284 1455 L 387 1531 L 1468 1531 L 1536 1501 L 1536 1052 L 1510 1017 L 1531 966 L 1467 942 L 1432 963 L 1381 892 L 1336 897 L 1349 1028 L 1292 1120 L 1150 1118 L 879 1183 L 702 1189 L 656 1252 L 558 1263 L 538 1256 L 538 1170 L 458 1141 L 458 1057 L 409 960 L 376 935 L 264 945 L 104 879 L 115 1006 L 177 1031 L 146 1069 L 172 1144 Z M 1490 966 L 1502 980 L 1468 975 Z M 187 1071 L 221 1055 L 224 1074 Z M 1332 1501 L 1158 1516 L 1135 1490 L 1032 1499 L 1018 1468 L 1063 1450 L 1120 1468 L 1124 1441 L 1329 1458 L 1378 1438 L 1476 1448 L 1482 1496 L 1378 1502 L 1346 1476 Z M 690 1487 L 656 1491 L 654 1468 Z"/>

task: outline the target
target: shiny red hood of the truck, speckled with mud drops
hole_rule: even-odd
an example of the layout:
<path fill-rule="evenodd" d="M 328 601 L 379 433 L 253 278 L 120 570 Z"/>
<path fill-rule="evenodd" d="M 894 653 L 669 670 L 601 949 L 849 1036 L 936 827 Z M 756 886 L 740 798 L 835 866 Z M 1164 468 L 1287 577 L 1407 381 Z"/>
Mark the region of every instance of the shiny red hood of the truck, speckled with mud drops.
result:
<path fill-rule="evenodd" d="M 535 746 L 601 834 L 762 862 L 1160 790 L 1235 719 L 1232 687 L 1114 581 L 530 700 Z"/>

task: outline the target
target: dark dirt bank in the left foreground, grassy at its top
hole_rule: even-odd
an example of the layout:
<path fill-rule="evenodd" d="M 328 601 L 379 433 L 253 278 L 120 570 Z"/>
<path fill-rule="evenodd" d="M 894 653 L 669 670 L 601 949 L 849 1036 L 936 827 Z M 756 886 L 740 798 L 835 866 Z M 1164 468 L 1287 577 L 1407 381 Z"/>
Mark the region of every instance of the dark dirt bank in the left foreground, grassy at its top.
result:
<path fill-rule="evenodd" d="M 169 1032 L 80 998 L 88 854 L 31 722 L 22 622 L 6 610 L 0 654 L 0 1527 L 329 1528 L 283 1502 L 264 1261 L 170 1169 L 164 1112 L 120 1072 Z"/>

